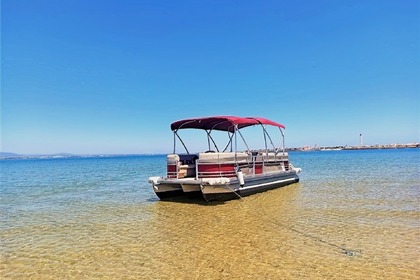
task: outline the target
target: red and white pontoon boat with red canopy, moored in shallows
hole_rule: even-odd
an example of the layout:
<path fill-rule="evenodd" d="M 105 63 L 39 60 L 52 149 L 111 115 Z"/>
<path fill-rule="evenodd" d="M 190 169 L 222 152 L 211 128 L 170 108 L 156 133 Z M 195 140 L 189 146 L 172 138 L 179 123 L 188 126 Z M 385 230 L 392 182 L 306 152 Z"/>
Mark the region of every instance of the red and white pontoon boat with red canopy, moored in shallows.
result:
<path fill-rule="evenodd" d="M 260 127 L 263 132 L 264 146 L 258 150 L 249 149 L 241 133 L 252 126 Z M 279 129 L 279 147 L 274 146 L 267 126 Z M 190 153 L 179 136 L 179 131 L 184 129 L 204 130 L 207 150 Z M 290 163 L 284 151 L 283 129 L 284 125 L 259 117 L 215 116 L 176 121 L 171 124 L 174 148 L 166 157 L 166 176 L 150 177 L 149 183 L 160 199 L 187 195 L 202 196 L 210 202 L 237 199 L 299 182 L 297 173 L 301 169 Z M 216 132 L 227 133 L 223 149 L 219 149 L 213 137 Z M 238 151 L 238 140 L 243 141 L 245 151 Z M 176 153 L 177 142 L 185 153 Z"/>

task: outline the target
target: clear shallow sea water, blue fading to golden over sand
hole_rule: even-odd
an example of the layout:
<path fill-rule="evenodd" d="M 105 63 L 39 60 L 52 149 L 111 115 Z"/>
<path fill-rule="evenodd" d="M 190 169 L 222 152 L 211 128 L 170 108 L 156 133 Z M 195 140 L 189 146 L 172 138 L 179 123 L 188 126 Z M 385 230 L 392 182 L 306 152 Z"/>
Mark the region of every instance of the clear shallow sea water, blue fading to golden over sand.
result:
<path fill-rule="evenodd" d="M 291 152 L 300 182 L 160 201 L 165 156 L 0 161 L 2 279 L 419 279 L 420 149 Z"/>

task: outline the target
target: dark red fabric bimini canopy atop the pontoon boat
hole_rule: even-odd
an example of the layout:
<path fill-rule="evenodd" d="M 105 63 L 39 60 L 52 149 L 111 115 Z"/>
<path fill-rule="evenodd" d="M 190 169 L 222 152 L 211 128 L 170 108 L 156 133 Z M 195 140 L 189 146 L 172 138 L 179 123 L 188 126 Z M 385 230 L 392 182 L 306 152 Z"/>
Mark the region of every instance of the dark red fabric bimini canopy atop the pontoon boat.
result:
<path fill-rule="evenodd" d="M 267 124 L 272 126 L 277 126 L 279 128 L 285 128 L 284 125 L 258 117 L 234 117 L 234 116 L 216 116 L 216 117 L 207 117 L 207 118 L 194 118 L 176 121 L 171 124 L 171 130 L 186 129 L 186 128 L 196 128 L 196 129 L 205 129 L 205 130 L 222 130 L 234 132 L 235 126 L 238 129 L 256 125 L 256 124 Z"/>

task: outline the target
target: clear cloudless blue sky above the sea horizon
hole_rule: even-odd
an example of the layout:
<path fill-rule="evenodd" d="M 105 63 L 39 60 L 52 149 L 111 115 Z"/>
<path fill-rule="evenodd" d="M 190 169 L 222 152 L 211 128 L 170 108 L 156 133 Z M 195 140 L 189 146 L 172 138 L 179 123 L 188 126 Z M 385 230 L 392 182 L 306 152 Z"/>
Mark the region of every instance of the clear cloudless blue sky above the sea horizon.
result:
<path fill-rule="evenodd" d="M 419 142 L 418 0 L 1 1 L 1 151 L 165 153 L 171 122 Z"/>

